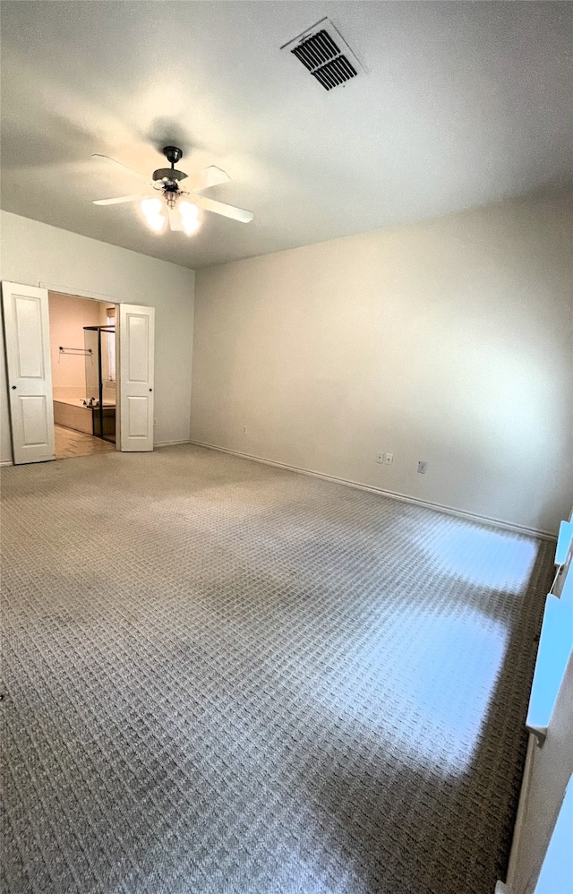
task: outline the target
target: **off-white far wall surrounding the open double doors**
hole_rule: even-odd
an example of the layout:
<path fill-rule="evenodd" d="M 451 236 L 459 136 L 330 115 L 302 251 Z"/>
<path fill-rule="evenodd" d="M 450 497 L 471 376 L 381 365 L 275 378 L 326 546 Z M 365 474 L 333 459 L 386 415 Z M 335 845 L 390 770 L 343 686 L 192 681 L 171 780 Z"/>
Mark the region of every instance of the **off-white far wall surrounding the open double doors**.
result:
<path fill-rule="evenodd" d="M 156 443 L 189 437 L 194 272 L 36 220 L 0 212 L 0 278 L 149 305 L 155 323 Z M 174 234 L 175 236 L 177 234 Z M 169 238 L 170 235 L 162 236 Z M 0 459 L 11 459 L 2 346 Z"/>

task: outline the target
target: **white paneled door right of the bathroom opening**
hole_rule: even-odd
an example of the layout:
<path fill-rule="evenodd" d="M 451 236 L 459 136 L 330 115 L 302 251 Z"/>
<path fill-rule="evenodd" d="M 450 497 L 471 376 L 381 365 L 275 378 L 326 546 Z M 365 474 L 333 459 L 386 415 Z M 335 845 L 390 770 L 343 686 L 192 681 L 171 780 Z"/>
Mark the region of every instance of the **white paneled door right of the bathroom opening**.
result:
<path fill-rule="evenodd" d="M 153 450 L 155 308 L 119 305 L 119 449 Z"/>

